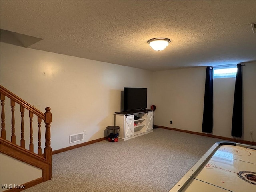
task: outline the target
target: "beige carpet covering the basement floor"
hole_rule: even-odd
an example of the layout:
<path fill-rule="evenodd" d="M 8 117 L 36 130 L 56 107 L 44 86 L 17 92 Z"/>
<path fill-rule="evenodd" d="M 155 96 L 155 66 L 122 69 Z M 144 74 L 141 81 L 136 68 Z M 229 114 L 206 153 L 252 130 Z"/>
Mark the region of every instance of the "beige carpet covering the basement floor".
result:
<path fill-rule="evenodd" d="M 168 192 L 219 139 L 157 128 L 52 156 L 52 179 L 24 192 Z"/>

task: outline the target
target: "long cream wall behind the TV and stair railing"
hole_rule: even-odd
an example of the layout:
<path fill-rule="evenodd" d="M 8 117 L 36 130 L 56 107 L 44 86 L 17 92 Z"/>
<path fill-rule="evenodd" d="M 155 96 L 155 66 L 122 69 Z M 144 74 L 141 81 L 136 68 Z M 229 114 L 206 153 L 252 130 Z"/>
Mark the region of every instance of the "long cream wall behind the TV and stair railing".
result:
<path fill-rule="evenodd" d="M 106 136 L 106 126 L 114 125 L 113 114 L 120 111 L 124 87 L 148 88 L 150 107 L 151 78 L 152 72 L 146 70 L 1 42 L 1 85 L 26 102 L 40 105 L 42 112 L 51 108 L 52 150 Z M 16 112 L 20 116 L 19 106 Z M 16 123 L 16 131 L 19 129 L 20 120 Z M 69 144 L 69 135 L 83 130 L 87 133 L 84 140 Z M 36 150 L 36 124 L 34 132 Z"/>

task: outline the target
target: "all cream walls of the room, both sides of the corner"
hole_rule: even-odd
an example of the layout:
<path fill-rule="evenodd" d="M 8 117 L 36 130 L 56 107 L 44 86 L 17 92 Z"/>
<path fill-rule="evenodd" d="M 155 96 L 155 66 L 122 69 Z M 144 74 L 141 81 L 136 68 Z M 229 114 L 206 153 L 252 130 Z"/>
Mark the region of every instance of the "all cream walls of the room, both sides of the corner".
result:
<path fill-rule="evenodd" d="M 242 68 L 243 139 L 250 141 L 248 132 L 253 130 L 255 141 L 256 64 Z M 113 114 L 120 111 L 120 95 L 126 86 L 148 88 L 148 108 L 156 105 L 154 124 L 201 132 L 205 71 L 198 67 L 149 72 L 1 43 L 1 85 L 30 104 L 39 104 L 42 112 L 47 106 L 52 108 L 53 150 L 81 143 L 69 144 L 69 135 L 83 130 L 87 135 L 82 142 L 106 136 L 106 126 L 114 124 Z M 234 82 L 235 78 L 214 79 L 214 135 L 231 138 Z M 18 106 L 16 113 L 20 116 Z M 16 130 L 19 125 L 16 122 Z M 36 134 L 34 129 L 35 150 Z"/>

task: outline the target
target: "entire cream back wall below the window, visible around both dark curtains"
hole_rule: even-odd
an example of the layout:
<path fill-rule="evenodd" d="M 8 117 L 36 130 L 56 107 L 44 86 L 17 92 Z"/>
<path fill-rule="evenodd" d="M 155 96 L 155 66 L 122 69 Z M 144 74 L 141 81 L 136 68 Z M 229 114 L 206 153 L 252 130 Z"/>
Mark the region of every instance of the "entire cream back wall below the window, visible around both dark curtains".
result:
<path fill-rule="evenodd" d="M 256 64 L 243 70 L 243 140 L 256 140 Z M 205 67 L 154 72 L 153 100 L 156 125 L 202 132 Z M 213 134 L 231 137 L 235 78 L 214 79 Z M 173 124 L 170 124 L 170 120 Z"/>

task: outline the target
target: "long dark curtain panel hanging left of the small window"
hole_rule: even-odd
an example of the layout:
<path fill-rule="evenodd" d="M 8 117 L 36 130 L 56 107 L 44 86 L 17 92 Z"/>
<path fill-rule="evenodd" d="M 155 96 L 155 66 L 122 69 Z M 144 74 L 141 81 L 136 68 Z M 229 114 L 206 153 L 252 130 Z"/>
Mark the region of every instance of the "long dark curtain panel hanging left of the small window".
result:
<path fill-rule="evenodd" d="M 211 133 L 213 127 L 213 67 L 206 67 L 204 115 L 202 132 Z"/>

